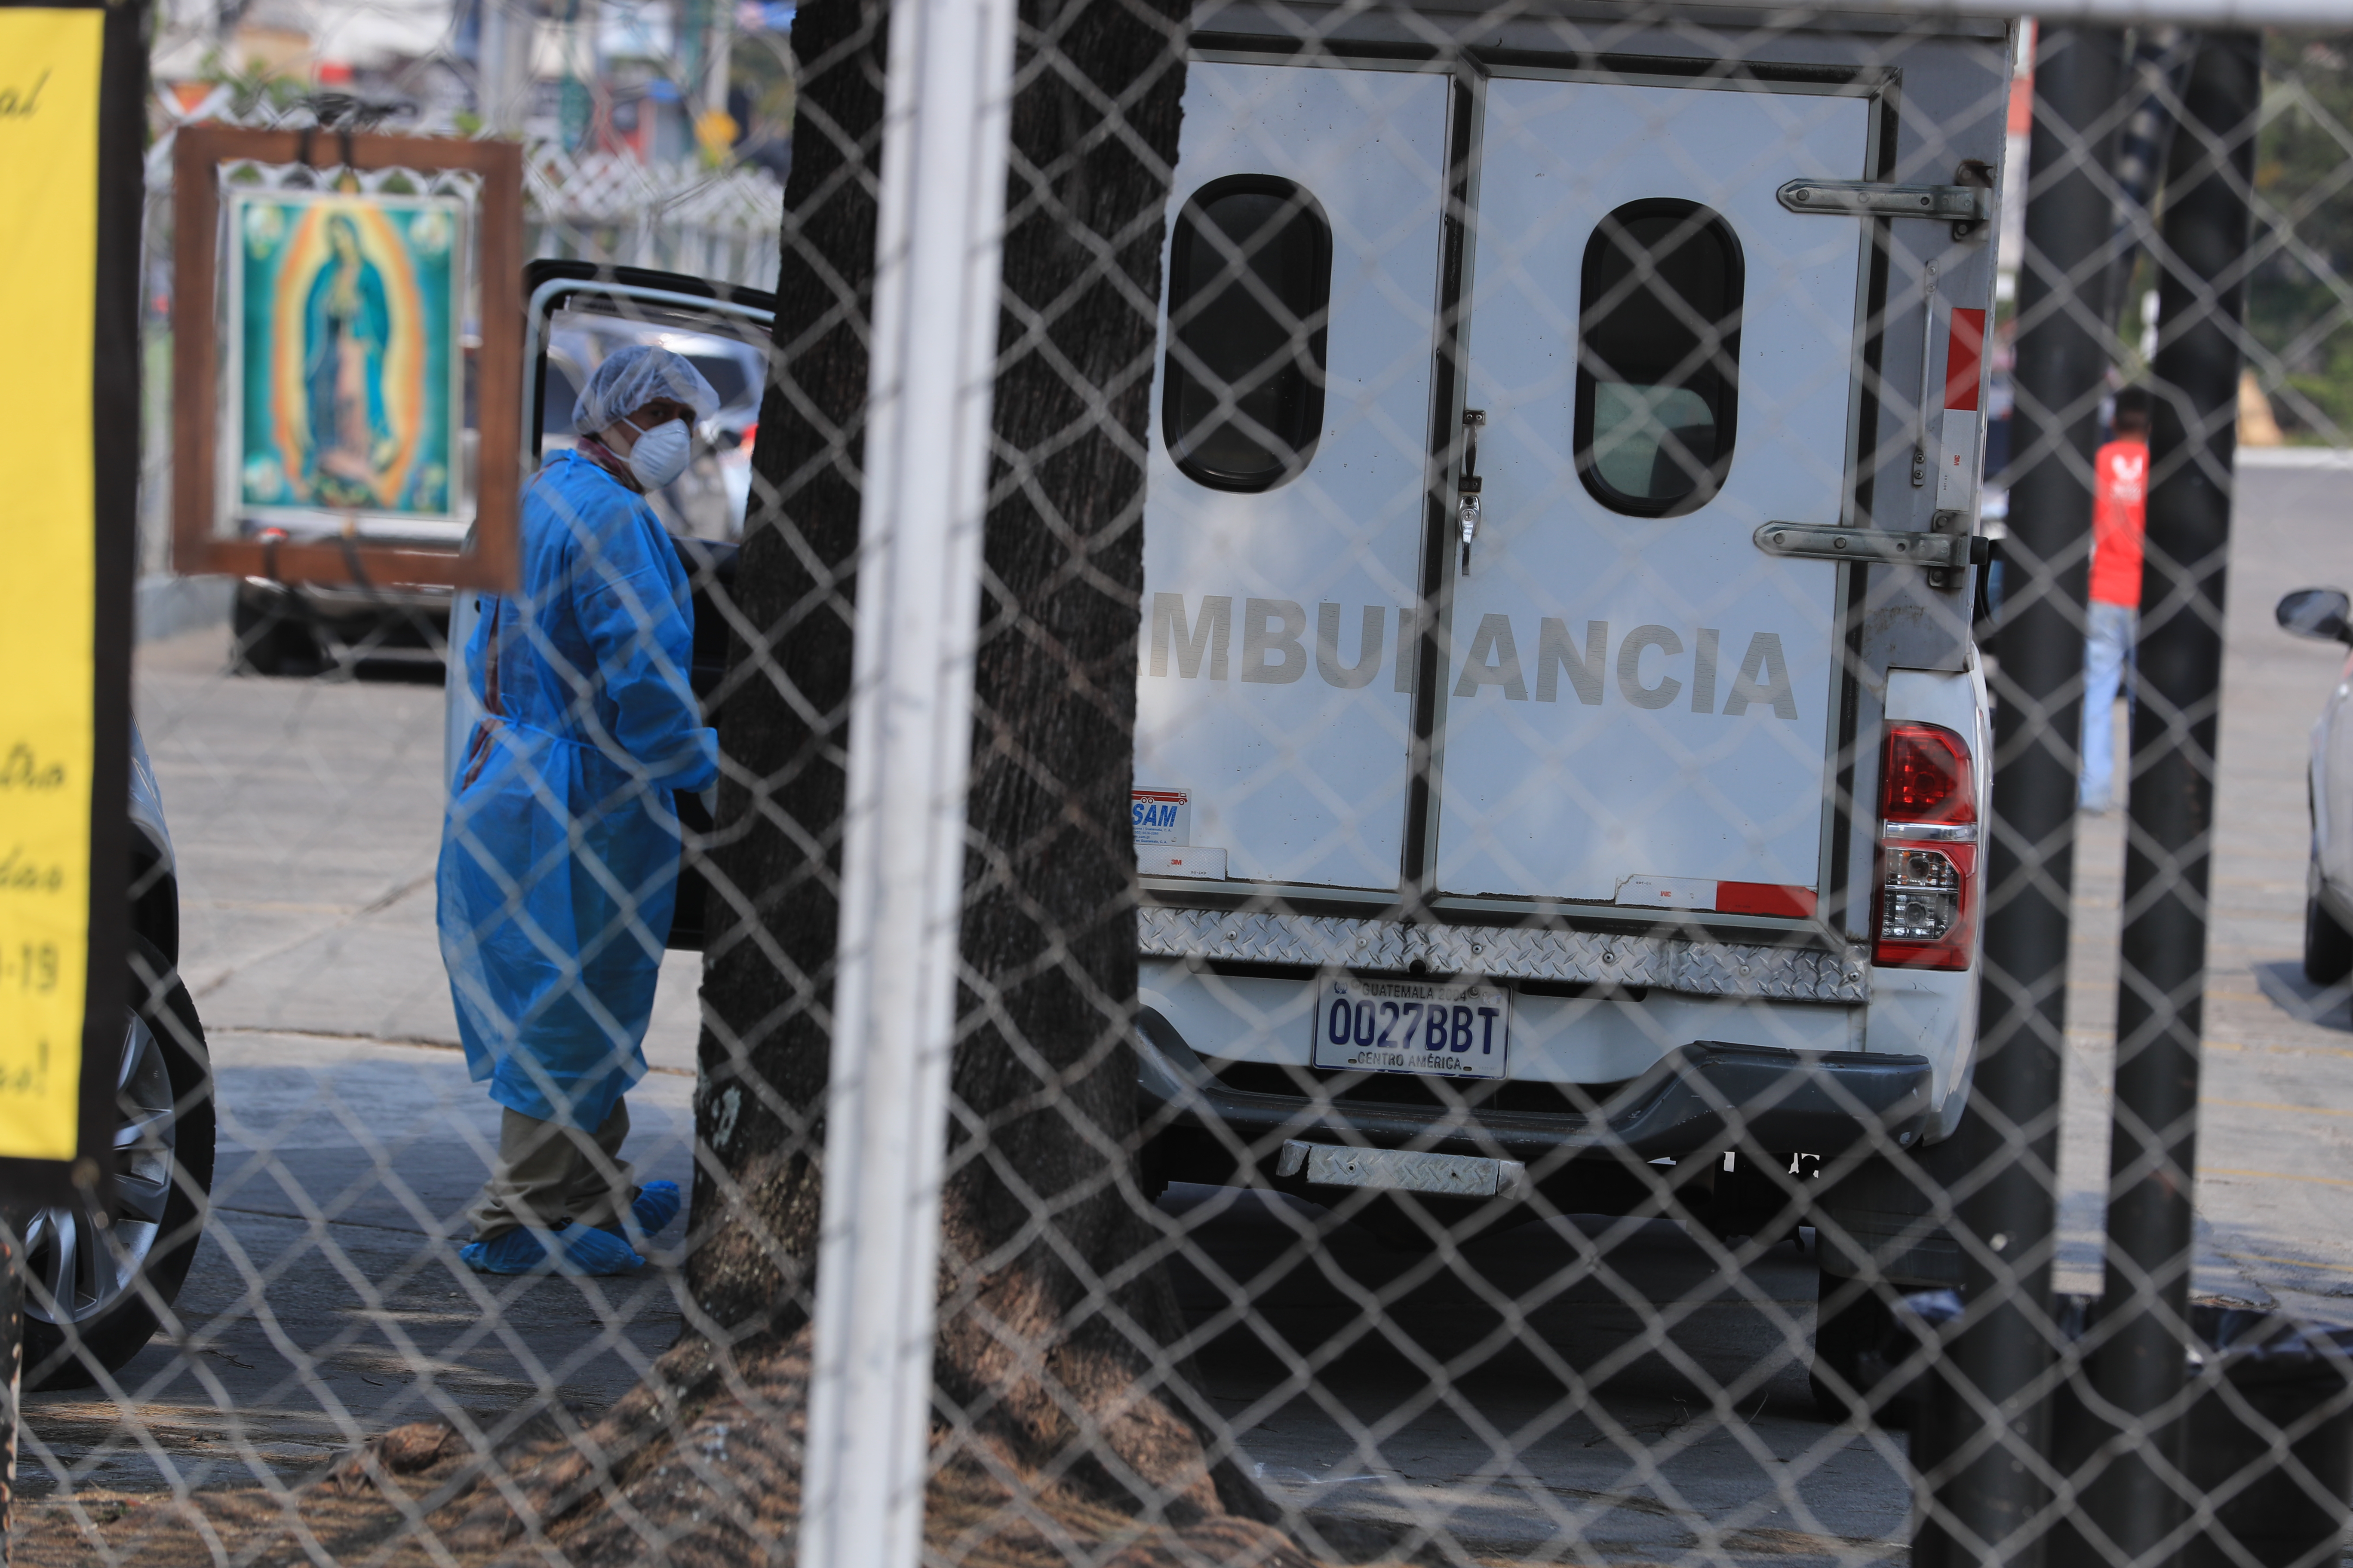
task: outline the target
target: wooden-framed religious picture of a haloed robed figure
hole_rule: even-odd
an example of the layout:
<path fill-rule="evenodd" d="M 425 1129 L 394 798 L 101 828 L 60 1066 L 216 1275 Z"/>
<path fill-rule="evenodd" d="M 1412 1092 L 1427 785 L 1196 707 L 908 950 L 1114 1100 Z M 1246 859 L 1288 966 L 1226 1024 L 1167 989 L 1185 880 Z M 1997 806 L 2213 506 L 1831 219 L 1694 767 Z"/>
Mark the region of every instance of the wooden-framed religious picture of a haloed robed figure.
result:
<path fill-rule="evenodd" d="M 520 148 L 188 127 L 174 200 L 174 567 L 511 588 Z"/>

